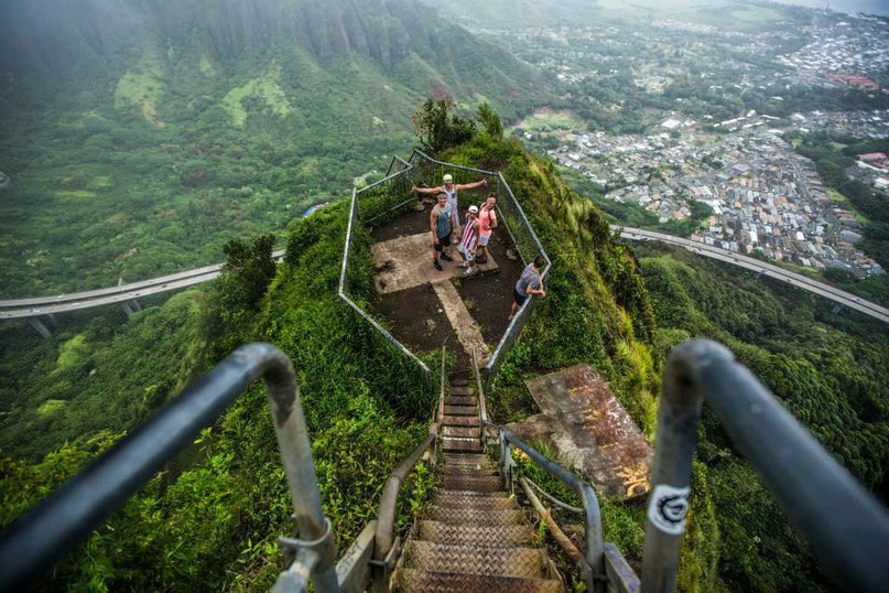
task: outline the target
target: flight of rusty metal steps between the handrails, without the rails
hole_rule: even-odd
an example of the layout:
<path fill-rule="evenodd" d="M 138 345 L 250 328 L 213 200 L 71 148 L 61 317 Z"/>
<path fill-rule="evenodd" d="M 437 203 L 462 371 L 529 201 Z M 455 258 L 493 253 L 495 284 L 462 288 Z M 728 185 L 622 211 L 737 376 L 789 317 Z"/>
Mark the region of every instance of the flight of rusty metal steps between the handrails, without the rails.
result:
<path fill-rule="evenodd" d="M 451 381 L 443 407 L 441 488 L 404 545 L 393 589 L 403 592 L 564 591 L 530 516 L 483 453 L 478 398 Z"/>

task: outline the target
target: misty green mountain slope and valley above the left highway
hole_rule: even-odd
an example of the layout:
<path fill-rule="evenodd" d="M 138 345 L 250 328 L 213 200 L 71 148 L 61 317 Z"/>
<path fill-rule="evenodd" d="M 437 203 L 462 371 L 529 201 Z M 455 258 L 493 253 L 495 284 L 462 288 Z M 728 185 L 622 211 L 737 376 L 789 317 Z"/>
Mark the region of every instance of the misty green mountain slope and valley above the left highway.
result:
<path fill-rule="evenodd" d="M 386 166 L 431 94 L 549 96 L 411 0 L 12 0 L 0 73 L 6 296 L 218 260 Z"/>

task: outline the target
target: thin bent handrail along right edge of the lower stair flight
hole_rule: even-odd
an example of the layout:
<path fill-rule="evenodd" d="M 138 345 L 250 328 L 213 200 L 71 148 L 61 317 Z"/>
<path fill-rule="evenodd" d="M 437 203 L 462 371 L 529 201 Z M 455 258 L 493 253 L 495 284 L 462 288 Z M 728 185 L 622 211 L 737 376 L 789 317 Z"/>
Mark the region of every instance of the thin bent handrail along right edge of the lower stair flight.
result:
<path fill-rule="evenodd" d="M 481 377 L 478 370 L 478 357 L 475 349 L 473 349 L 473 367 L 475 369 L 478 386 L 479 420 L 481 422 L 481 434 L 485 450 L 487 451 L 488 428 L 495 429 L 497 431 L 498 442 L 500 444 L 500 471 L 507 486 L 511 486 L 514 478 L 512 468 L 516 464 L 512 461 L 512 451 L 510 449 L 511 445 L 523 451 L 530 460 L 533 460 L 538 465 L 546 470 L 550 475 L 577 493 L 583 505 L 584 537 L 586 539 L 586 552 L 584 553 L 583 563 L 579 564 L 581 573 L 584 574 L 584 578 L 587 581 L 587 591 L 595 591 L 597 593 L 605 591 L 605 581 L 607 579 L 604 559 L 605 547 L 601 539 L 601 510 L 599 509 L 599 499 L 596 497 L 596 490 L 594 490 L 593 486 L 590 486 L 579 476 L 551 461 L 536 449 L 519 439 L 509 429 L 491 422 L 488 419 L 487 402 L 481 385 Z"/>

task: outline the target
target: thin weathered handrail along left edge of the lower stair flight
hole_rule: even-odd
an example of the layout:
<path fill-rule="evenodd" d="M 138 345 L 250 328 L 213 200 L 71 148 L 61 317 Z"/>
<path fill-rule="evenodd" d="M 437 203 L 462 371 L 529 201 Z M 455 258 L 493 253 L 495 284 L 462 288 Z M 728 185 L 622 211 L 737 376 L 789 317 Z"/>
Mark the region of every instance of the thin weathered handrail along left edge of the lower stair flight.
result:
<path fill-rule="evenodd" d="M 434 418 L 430 424 L 430 433 L 420 443 L 416 449 L 404 460 L 398 467 L 395 467 L 386 481 L 386 486 L 382 490 L 380 498 L 380 506 L 377 513 L 377 528 L 373 533 L 373 554 L 372 565 L 375 574 L 372 578 L 372 585 L 375 592 L 389 591 L 389 575 L 394 567 L 394 559 L 389 558 L 395 548 L 395 510 L 398 507 L 398 497 L 401 492 L 401 484 L 408 477 L 408 474 L 423 457 L 425 452 L 433 449 L 432 457 L 434 460 L 436 453 L 434 445 L 438 439 L 440 427 L 442 418 L 444 417 L 444 400 L 445 400 L 445 346 L 442 346 L 442 367 L 441 380 L 438 388 L 438 403 L 435 408 Z"/>

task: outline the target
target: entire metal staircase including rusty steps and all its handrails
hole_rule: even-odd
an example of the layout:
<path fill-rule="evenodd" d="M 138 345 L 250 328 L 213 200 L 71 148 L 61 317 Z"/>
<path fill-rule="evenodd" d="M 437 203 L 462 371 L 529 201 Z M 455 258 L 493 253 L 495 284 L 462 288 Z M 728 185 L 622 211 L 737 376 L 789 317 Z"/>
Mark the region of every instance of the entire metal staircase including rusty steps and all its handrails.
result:
<path fill-rule="evenodd" d="M 545 522 L 587 591 L 673 591 L 705 400 L 841 586 L 886 591 L 889 514 L 725 347 L 691 341 L 674 348 L 668 359 L 641 579 L 612 543 L 603 542 L 592 486 L 488 421 L 477 365 L 475 389 L 468 380 L 453 380 L 445 397 L 444 358 L 443 353 L 438 406 L 429 435 L 392 472 L 378 518 L 341 554 L 322 511 L 293 366 L 270 344 L 250 344 L 0 533 L 0 592 L 33 585 L 259 378 L 267 385 L 295 522 L 293 537 L 279 539 L 290 564 L 274 591 L 307 591 L 310 581 L 318 592 L 563 590 L 546 551 L 538 546 L 529 514 L 510 495 L 513 485 L 520 485 L 538 514 L 548 516 L 529 487 L 532 484 L 518 475 L 512 449 L 582 500 L 583 508 L 575 511 L 584 515 L 583 550 L 564 533 L 560 537 L 551 520 Z M 499 446 L 497 465 L 485 454 L 489 445 Z M 394 528 L 398 495 L 422 461 L 440 467 L 442 488 L 401 546 Z"/>

